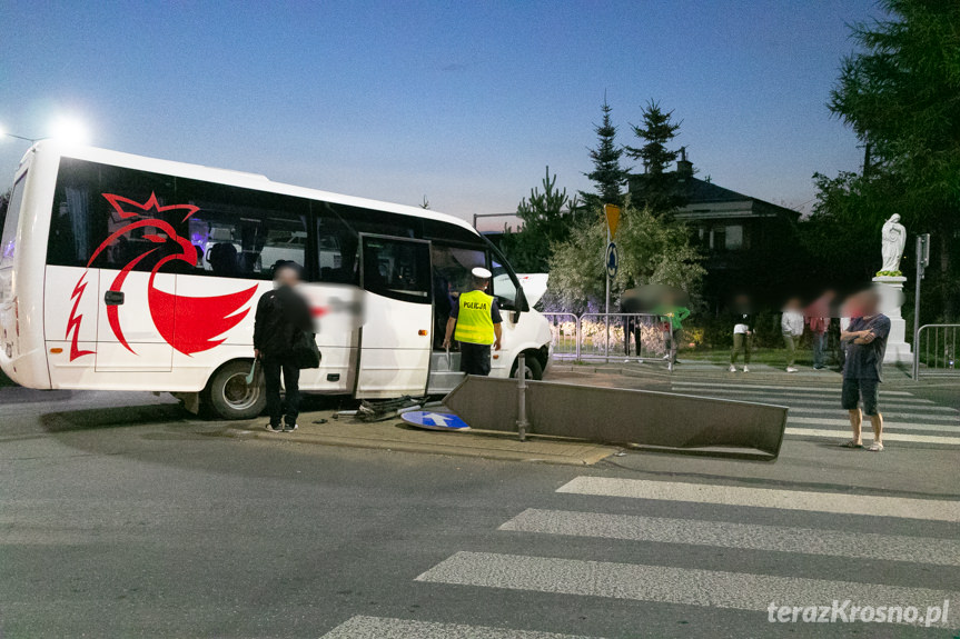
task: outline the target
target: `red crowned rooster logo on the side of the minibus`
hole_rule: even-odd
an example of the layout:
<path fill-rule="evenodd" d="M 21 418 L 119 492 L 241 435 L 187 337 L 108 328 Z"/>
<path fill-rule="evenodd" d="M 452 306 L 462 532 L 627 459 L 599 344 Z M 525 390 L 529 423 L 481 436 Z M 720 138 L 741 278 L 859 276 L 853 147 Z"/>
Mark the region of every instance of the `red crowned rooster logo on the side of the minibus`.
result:
<path fill-rule="evenodd" d="M 188 239 L 180 237 L 171 224 L 161 219 L 148 217 L 148 214 L 151 211 L 156 211 L 157 213 L 182 211 L 182 221 L 186 222 L 190 216 L 200 210 L 199 207 L 195 207 L 194 204 L 170 204 L 161 207 L 157 201 L 157 196 L 155 193 L 150 193 L 150 198 L 143 203 L 113 193 L 101 194 L 108 202 L 110 202 L 110 206 L 113 207 L 113 210 L 121 219 L 130 220 L 130 222 L 110 233 L 110 236 L 100 243 L 87 261 L 87 268 L 89 269 L 90 264 L 93 263 L 93 260 L 96 260 L 97 257 L 107 249 L 107 247 L 112 246 L 121 237 L 136 229 L 143 229 L 142 238 L 156 243 L 157 246 L 143 251 L 127 262 L 127 264 L 120 269 L 117 277 L 113 278 L 109 291 L 122 292 L 123 282 L 127 280 L 127 276 L 138 263 L 140 263 L 147 256 L 155 253 L 161 248 L 165 249 L 165 252 L 169 250 L 169 254 L 157 260 L 157 263 L 150 271 L 150 279 L 147 284 L 147 302 L 150 308 L 150 317 L 154 320 L 154 326 L 157 327 L 157 331 L 167 343 L 184 355 L 189 356 L 195 352 L 209 350 L 222 343 L 226 338 L 217 339 L 217 337 L 237 326 L 247 316 L 250 309 L 249 307 L 244 307 L 247 306 L 254 297 L 254 293 L 257 291 L 256 286 L 225 296 L 188 297 L 168 293 L 158 289 L 154 283 L 157 272 L 170 262 L 182 261 L 188 263 L 190 267 L 196 267 L 197 249 L 194 248 L 194 244 L 190 243 Z M 170 243 L 174 244 L 172 248 L 169 247 Z M 87 287 L 86 277 L 87 271 L 80 276 L 77 286 L 73 287 L 73 292 L 70 294 L 70 298 L 75 301 L 73 308 L 70 311 L 70 319 L 67 322 L 66 337 L 70 338 L 70 333 L 72 332 L 70 348 L 71 361 L 78 357 L 95 352 L 90 350 L 79 350 L 77 347 L 77 333 L 80 328 L 82 316 L 77 316 L 76 313 L 80 298 Z M 107 307 L 107 320 L 119 342 L 123 345 L 127 350 L 136 355 L 136 351 L 130 347 L 127 342 L 127 338 L 123 336 L 123 329 L 120 326 L 118 306 Z"/>

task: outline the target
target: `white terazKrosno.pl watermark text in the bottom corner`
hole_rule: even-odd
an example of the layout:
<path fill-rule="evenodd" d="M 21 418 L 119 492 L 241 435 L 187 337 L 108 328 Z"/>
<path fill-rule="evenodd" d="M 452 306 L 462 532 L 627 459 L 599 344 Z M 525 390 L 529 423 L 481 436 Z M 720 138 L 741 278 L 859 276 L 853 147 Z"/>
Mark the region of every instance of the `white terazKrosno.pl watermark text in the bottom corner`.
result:
<path fill-rule="evenodd" d="M 785 606 L 771 601 L 766 607 L 771 623 L 910 623 L 948 626 L 950 600 L 936 606 L 857 606 L 850 599 L 834 599 L 830 606 Z"/>

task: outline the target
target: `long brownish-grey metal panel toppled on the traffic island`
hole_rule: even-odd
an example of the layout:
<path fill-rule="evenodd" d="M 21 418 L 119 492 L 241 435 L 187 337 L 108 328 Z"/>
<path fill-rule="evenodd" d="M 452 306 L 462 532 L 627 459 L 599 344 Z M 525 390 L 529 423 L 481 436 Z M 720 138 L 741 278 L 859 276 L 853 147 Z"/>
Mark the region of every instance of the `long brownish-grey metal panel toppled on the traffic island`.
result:
<path fill-rule="evenodd" d="M 525 388 L 519 388 L 518 382 Z M 518 393 L 519 401 L 504 401 Z M 444 399 L 472 428 L 720 457 L 780 455 L 786 407 L 467 376 Z"/>

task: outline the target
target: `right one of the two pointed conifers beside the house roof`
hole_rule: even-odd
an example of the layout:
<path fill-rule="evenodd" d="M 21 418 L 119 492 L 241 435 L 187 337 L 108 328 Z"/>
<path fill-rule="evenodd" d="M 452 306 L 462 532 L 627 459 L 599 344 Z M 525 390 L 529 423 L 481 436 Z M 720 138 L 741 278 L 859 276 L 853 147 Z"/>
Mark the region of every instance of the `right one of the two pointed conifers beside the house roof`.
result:
<path fill-rule="evenodd" d="M 676 173 L 669 170 L 680 151 L 667 148 L 680 124 L 673 121 L 673 111 L 664 111 L 657 102 L 650 100 L 643 109 L 643 124 L 631 124 L 643 143 L 624 147 L 629 158 L 643 162 L 644 174 L 636 180 L 642 189 L 634 193 L 636 204 L 645 206 L 656 216 L 670 214 L 683 202 Z"/>

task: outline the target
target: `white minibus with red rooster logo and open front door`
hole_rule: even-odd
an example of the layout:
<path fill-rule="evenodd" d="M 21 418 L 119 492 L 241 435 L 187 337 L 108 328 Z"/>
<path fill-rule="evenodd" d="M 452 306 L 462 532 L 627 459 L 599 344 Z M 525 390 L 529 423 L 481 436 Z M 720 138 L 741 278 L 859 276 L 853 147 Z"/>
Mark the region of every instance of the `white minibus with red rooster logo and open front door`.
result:
<path fill-rule="evenodd" d="M 270 267 L 304 267 L 319 369 L 303 390 L 393 398 L 462 379 L 441 350 L 474 267 L 494 272 L 503 349 L 492 375 L 540 378 L 551 335 L 521 276 L 465 221 L 273 182 L 264 176 L 95 148 L 34 144 L 0 240 L 0 367 L 37 389 L 168 391 L 190 410 L 247 419 L 257 300 Z M 525 284 L 522 286 L 522 282 Z"/>

